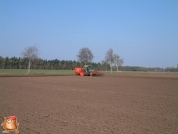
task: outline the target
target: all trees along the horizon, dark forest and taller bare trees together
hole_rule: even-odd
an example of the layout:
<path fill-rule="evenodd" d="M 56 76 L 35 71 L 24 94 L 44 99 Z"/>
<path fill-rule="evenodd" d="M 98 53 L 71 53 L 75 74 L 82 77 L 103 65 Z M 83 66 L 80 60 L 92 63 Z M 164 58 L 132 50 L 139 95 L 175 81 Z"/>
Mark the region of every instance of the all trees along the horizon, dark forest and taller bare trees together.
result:
<path fill-rule="evenodd" d="M 81 48 L 76 60 L 46 60 L 38 57 L 38 49 L 30 46 L 22 51 L 22 57 L 2 57 L 0 56 L 0 69 L 48 69 L 48 70 L 73 70 L 75 67 L 83 67 L 86 64 L 92 65 L 96 70 L 106 71 L 155 71 L 155 72 L 178 72 L 177 68 L 145 68 L 122 66 L 124 60 L 118 54 L 114 54 L 113 49 L 109 49 L 104 60 L 95 63 L 92 62 L 94 55 L 89 48 Z"/>

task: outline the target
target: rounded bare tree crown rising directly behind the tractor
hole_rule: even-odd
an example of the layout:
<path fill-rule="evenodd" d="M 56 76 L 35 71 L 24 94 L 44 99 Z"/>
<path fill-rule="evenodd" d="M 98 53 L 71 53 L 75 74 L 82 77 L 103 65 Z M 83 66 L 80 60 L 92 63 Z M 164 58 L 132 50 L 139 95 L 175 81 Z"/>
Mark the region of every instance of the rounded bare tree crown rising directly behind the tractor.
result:
<path fill-rule="evenodd" d="M 94 56 L 89 48 L 81 48 L 77 55 L 77 58 L 80 62 L 86 65 L 92 62 Z"/>

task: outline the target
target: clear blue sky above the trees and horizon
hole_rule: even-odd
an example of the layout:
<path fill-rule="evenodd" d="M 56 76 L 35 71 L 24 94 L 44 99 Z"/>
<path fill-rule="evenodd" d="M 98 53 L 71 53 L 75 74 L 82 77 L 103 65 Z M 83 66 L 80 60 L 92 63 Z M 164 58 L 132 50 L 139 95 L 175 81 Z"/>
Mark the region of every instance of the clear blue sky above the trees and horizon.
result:
<path fill-rule="evenodd" d="M 36 45 L 42 59 L 94 62 L 110 48 L 124 66 L 177 67 L 178 0 L 0 0 L 0 56 Z"/>

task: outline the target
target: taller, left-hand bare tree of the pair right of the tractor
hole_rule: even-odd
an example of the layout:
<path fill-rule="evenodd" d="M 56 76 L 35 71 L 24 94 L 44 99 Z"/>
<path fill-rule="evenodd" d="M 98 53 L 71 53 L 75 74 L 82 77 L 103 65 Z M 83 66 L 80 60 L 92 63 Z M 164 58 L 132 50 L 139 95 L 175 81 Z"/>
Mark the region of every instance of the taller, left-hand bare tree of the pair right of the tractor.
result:
<path fill-rule="evenodd" d="M 110 68 L 111 68 L 111 73 L 112 73 L 112 64 L 114 63 L 114 54 L 113 54 L 113 49 L 110 48 L 106 52 L 105 60 L 109 63 Z"/>

